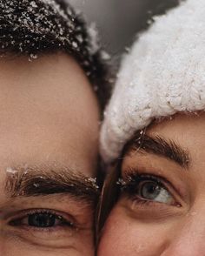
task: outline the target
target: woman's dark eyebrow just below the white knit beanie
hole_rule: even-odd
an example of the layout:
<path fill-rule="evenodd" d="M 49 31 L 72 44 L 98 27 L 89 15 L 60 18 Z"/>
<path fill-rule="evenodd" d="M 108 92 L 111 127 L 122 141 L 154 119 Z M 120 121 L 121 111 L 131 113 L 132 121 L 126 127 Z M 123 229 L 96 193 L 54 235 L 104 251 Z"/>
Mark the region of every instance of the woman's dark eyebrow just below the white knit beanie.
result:
<path fill-rule="evenodd" d="M 159 136 L 152 138 L 146 134 L 137 134 L 135 138 L 132 138 L 125 146 L 123 156 L 133 151 L 149 152 L 164 158 L 169 158 L 183 168 L 188 168 L 190 163 L 190 157 L 186 150 L 182 149 L 180 145 L 177 145 L 175 141 L 166 140 Z"/>

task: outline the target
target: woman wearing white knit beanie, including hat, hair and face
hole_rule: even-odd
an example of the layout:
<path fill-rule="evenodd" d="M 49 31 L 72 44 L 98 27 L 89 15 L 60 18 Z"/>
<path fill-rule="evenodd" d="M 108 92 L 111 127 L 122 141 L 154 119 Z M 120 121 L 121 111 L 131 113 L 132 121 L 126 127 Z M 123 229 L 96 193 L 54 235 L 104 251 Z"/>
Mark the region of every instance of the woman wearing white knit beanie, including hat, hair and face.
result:
<path fill-rule="evenodd" d="M 182 1 L 122 59 L 101 132 L 99 256 L 205 255 L 204 12 Z"/>

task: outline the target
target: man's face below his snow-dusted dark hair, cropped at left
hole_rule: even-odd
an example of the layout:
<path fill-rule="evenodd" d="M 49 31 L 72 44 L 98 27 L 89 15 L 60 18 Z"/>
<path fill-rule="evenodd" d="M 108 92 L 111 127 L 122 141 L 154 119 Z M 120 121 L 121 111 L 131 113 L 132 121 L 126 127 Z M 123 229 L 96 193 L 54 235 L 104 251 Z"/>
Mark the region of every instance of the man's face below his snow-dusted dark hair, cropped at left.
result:
<path fill-rule="evenodd" d="M 93 255 L 98 105 L 61 54 L 0 60 L 0 252 Z"/>

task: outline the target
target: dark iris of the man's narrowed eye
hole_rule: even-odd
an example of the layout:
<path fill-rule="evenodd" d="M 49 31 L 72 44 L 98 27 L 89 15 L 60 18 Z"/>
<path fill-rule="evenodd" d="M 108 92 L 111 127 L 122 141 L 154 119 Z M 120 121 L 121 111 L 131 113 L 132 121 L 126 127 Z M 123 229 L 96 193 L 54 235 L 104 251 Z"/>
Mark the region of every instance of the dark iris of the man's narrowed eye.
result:
<path fill-rule="evenodd" d="M 48 213 L 37 213 L 29 216 L 29 225 L 36 227 L 55 226 L 56 217 Z"/>

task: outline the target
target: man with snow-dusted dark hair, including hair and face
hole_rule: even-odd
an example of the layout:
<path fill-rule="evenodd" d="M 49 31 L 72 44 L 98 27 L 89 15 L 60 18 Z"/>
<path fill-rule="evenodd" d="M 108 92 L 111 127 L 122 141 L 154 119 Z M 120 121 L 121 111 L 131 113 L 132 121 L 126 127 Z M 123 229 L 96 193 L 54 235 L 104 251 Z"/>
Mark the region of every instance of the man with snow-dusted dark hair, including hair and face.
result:
<path fill-rule="evenodd" d="M 107 68 L 63 1 L 0 0 L 1 255 L 95 251 Z"/>

